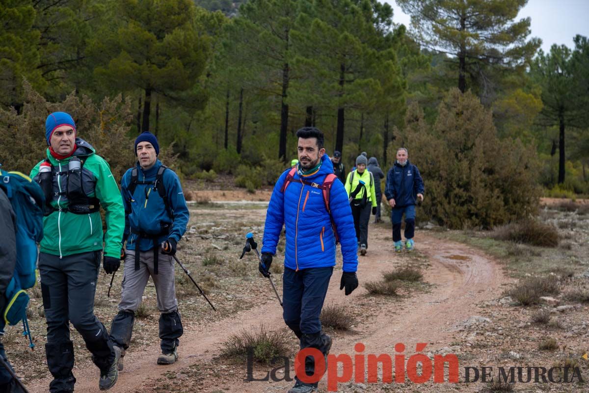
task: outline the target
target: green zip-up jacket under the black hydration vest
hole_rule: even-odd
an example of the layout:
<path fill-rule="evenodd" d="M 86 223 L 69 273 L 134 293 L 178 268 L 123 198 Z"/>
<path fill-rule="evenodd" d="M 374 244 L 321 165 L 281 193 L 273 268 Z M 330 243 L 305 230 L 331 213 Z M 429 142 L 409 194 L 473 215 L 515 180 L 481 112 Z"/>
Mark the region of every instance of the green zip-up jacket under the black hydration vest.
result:
<path fill-rule="evenodd" d="M 84 190 L 87 196 L 100 200 L 106 213 L 107 230 L 106 233 L 102 232 L 100 211 L 89 214 L 60 211 L 59 209 L 68 206 L 67 197 L 54 193 L 50 203 L 56 210 L 43 219 L 44 237 L 41 240 L 41 252 L 60 257 L 74 255 L 102 250 L 104 241 L 104 255 L 118 258 L 121 255 L 121 240 L 125 229 L 125 210 L 117 181 L 112 176 L 107 161 L 95 154 L 94 148 L 88 142 L 76 138 L 76 150 L 73 155 L 84 161 Z M 62 193 L 67 187 L 67 175 L 61 173 L 68 170 L 70 157 L 58 160 L 47 149 L 47 158 L 57 170 L 52 181 L 54 190 L 58 189 L 59 193 Z M 35 181 L 38 181 L 38 177 L 35 177 L 43 161 L 39 161 L 31 171 L 31 178 Z"/>

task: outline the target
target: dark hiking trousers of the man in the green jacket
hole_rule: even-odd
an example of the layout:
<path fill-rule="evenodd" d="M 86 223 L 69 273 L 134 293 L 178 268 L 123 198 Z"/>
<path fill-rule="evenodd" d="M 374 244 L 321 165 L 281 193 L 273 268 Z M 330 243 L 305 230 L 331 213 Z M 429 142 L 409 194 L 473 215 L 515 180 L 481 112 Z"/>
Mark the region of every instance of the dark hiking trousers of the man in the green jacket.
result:
<path fill-rule="evenodd" d="M 75 378 L 74 348 L 70 340 L 70 322 L 82 335 L 92 361 L 101 373 L 108 371 L 115 353 L 107 329 L 94 315 L 94 295 L 101 251 L 59 257 L 39 254 L 41 293 L 47 319 L 47 365 L 54 380 L 49 391 L 71 392 Z"/>

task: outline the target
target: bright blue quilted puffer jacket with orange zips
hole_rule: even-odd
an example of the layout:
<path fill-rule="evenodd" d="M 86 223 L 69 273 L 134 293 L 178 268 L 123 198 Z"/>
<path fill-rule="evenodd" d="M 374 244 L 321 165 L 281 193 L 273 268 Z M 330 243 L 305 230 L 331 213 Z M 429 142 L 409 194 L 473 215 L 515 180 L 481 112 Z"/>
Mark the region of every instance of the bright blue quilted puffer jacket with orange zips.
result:
<path fill-rule="evenodd" d="M 270 198 L 262 252 L 272 255 L 276 253 L 276 245 L 284 224 L 284 266 L 293 270 L 335 266 L 335 236 L 323 202 L 322 190 L 292 181 L 283 194 L 282 185 L 289 170 L 284 171 L 279 177 Z M 327 154 L 323 154 L 322 165 L 317 173 L 305 176 L 304 179 L 309 183 L 322 184 L 329 173 L 333 173 L 333 166 Z M 294 179 L 300 179 L 299 174 L 296 174 Z M 356 232 L 348 194 L 339 179 L 332 184 L 329 209 L 342 245 L 343 271 L 355 272 L 358 268 Z"/>

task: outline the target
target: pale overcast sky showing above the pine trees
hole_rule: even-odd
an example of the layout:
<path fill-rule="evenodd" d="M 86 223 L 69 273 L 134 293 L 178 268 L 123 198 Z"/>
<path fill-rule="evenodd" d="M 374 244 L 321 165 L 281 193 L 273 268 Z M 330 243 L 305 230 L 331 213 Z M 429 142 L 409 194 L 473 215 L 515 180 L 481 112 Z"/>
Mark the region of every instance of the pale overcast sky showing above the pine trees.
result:
<path fill-rule="evenodd" d="M 411 18 L 394 0 L 386 0 L 395 10 L 393 22 L 409 27 Z M 550 51 L 552 44 L 564 44 L 573 48 L 576 34 L 589 36 L 589 0 L 529 0 L 521 9 L 518 20 L 532 18 L 532 34 L 542 39 L 542 49 Z"/>

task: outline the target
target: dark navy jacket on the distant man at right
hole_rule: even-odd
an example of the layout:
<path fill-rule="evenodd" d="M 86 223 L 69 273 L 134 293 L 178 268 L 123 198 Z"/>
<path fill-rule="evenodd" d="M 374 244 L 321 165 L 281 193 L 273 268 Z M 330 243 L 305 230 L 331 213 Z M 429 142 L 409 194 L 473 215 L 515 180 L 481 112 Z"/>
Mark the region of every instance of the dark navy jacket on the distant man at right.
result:
<path fill-rule="evenodd" d="M 386 174 L 386 200 L 395 199 L 395 207 L 415 204 L 417 194 L 423 194 L 423 179 L 419 169 L 407 160 L 405 166 L 395 164 Z"/>

